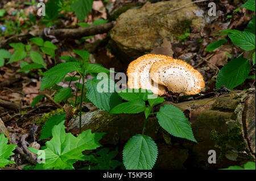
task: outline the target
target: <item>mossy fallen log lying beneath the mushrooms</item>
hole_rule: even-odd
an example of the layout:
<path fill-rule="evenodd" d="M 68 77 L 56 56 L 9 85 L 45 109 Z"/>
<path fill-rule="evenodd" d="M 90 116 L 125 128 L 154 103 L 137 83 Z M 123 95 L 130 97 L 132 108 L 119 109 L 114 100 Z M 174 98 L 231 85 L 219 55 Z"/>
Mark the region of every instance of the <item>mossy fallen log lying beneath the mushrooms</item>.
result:
<path fill-rule="evenodd" d="M 163 104 L 173 104 L 185 112 L 198 143 L 171 136 L 160 128 L 155 115 L 149 117 L 145 134 L 159 149 L 154 169 L 221 169 L 255 161 L 255 89 Z M 156 106 L 154 112 L 162 105 Z M 107 133 L 101 144 L 119 146 L 120 158 L 123 145 L 142 133 L 143 124 L 143 113 L 110 115 L 97 110 L 82 115 L 82 130 Z M 79 133 L 78 117 L 68 130 Z M 216 163 L 208 163 L 209 150 L 216 151 Z"/>

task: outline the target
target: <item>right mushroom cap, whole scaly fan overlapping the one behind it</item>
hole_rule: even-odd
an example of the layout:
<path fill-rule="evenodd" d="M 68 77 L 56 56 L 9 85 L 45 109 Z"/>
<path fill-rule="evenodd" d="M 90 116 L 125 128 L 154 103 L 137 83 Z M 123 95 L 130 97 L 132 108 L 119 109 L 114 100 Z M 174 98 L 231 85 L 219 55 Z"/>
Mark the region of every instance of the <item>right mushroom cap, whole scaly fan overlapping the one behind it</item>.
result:
<path fill-rule="evenodd" d="M 203 75 L 179 59 L 166 58 L 154 62 L 150 69 L 150 77 L 172 92 L 191 95 L 198 94 L 204 88 Z"/>

